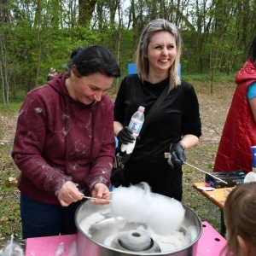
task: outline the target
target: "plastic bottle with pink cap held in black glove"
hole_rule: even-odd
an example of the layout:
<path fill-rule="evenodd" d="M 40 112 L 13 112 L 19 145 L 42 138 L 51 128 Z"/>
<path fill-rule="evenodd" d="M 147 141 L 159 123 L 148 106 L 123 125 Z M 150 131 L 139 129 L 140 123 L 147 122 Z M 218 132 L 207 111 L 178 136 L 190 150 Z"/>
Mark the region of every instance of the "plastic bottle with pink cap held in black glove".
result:
<path fill-rule="evenodd" d="M 133 143 L 122 144 L 121 145 L 121 151 L 125 152 L 126 154 L 131 154 L 133 151 L 133 148 L 135 147 L 136 138 L 138 137 L 144 122 L 144 110 L 145 108 L 143 106 L 140 106 L 136 113 L 134 113 L 131 117 L 131 121 L 129 124 L 129 128 L 132 131 L 132 137 L 135 138 Z"/>

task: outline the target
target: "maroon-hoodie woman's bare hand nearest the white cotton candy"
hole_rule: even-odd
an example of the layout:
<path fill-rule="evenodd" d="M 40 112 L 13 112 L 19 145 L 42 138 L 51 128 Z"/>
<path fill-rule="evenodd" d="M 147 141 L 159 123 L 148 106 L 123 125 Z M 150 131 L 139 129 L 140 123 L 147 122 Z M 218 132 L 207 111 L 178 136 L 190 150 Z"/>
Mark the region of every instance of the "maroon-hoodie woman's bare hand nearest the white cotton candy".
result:
<path fill-rule="evenodd" d="M 98 198 L 92 201 L 95 205 L 106 205 L 111 200 L 109 189 L 103 183 L 96 183 L 91 191 L 91 196 Z M 105 199 L 105 200 L 103 200 Z"/>

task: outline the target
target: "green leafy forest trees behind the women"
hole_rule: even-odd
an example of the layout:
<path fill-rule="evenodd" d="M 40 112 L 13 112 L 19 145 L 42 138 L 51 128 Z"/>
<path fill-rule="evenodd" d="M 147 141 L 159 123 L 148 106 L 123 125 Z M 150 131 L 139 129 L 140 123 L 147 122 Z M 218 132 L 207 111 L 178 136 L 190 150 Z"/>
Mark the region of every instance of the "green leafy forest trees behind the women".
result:
<path fill-rule="evenodd" d="M 214 80 L 236 72 L 247 59 L 255 16 L 255 0 L 2 0 L 3 108 L 44 84 L 49 67 L 63 71 L 79 46 L 110 49 L 124 77 L 143 27 L 157 18 L 170 20 L 182 34 L 182 74 L 207 74 L 213 93 Z"/>

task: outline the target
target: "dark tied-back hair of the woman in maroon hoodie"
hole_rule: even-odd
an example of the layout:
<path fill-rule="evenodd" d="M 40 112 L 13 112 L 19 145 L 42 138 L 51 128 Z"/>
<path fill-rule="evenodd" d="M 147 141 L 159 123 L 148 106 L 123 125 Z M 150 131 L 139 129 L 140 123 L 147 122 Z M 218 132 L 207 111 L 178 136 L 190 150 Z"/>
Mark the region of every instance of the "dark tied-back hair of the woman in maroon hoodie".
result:
<path fill-rule="evenodd" d="M 65 70 L 70 74 L 71 68 L 76 68 L 76 76 L 89 76 L 93 73 L 102 73 L 108 77 L 119 77 L 120 70 L 113 54 L 101 45 L 93 45 L 73 50 L 71 61 L 65 66 Z"/>

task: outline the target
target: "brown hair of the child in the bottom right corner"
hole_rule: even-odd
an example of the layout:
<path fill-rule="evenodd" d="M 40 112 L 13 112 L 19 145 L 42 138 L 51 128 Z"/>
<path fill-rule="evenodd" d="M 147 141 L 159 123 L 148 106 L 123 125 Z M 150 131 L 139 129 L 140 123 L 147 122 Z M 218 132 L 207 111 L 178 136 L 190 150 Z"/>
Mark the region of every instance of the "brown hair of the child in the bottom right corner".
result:
<path fill-rule="evenodd" d="M 227 244 L 221 255 L 238 255 L 237 236 L 255 252 L 256 245 L 256 183 L 243 183 L 230 192 L 224 204 Z M 234 254 L 232 254 L 232 253 Z"/>

